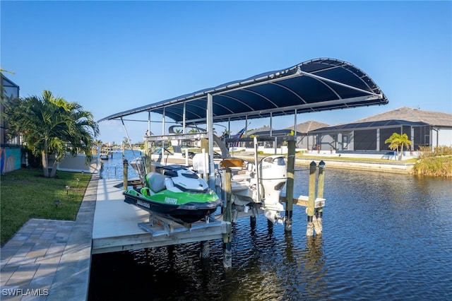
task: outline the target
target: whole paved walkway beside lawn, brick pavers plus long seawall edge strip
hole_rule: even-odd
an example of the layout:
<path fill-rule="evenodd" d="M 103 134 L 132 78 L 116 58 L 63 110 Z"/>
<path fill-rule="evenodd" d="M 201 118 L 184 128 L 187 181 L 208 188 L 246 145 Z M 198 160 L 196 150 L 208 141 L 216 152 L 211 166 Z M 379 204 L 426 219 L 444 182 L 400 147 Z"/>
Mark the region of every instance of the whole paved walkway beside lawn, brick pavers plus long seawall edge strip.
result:
<path fill-rule="evenodd" d="M 88 299 L 98 179 L 88 184 L 76 221 L 33 218 L 1 247 L 1 300 Z"/>

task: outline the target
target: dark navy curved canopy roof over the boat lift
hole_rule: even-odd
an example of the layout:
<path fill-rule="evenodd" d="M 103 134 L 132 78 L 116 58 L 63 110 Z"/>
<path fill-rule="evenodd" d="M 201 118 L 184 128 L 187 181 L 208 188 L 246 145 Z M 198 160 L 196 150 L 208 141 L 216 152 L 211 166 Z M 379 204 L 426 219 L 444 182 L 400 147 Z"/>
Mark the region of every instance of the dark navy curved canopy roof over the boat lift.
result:
<path fill-rule="evenodd" d="M 156 112 L 186 124 L 206 122 L 208 94 L 213 95 L 213 122 L 319 112 L 345 107 L 385 105 L 386 96 L 366 73 L 338 59 L 313 59 L 100 119 Z"/>

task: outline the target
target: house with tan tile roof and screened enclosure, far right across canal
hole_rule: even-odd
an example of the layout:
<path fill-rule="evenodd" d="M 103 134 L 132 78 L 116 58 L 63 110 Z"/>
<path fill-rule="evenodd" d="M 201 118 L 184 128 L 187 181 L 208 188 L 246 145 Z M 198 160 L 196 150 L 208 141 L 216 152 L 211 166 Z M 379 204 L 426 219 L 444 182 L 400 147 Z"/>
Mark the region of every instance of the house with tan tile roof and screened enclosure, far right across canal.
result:
<path fill-rule="evenodd" d="M 412 151 L 420 146 L 452 146 L 452 114 L 400 107 L 349 124 L 311 131 L 317 136 L 321 151 L 368 154 L 388 153 L 389 143 L 385 141 L 393 133 L 407 134 Z"/>

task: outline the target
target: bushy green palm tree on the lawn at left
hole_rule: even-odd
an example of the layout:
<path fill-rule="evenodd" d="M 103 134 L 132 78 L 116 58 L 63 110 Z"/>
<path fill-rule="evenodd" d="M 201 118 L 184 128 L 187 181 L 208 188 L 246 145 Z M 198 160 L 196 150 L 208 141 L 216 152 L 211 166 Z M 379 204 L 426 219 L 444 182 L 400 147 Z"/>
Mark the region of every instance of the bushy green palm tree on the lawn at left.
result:
<path fill-rule="evenodd" d="M 55 176 L 57 164 L 66 153 L 85 153 L 90 162 L 91 148 L 99 134 L 93 114 L 76 102 L 55 98 L 48 90 L 44 90 L 42 97 L 11 101 L 6 108 L 6 122 L 10 135 L 22 135 L 30 151 L 41 155 L 44 177 Z M 50 173 L 49 156 L 55 158 Z"/>

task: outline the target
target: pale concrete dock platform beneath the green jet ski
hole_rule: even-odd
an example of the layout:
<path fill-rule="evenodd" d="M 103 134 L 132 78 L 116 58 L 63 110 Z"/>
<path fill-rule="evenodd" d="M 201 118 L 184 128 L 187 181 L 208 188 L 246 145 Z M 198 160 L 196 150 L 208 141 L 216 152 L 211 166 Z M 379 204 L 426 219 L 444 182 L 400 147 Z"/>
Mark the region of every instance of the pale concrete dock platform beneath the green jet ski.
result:
<path fill-rule="evenodd" d="M 102 180 L 97 189 L 92 254 L 216 240 L 227 232 L 226 223 L 220 220 L 192 223 L 191 228 L 169 222 L 171 230 L 165 230 L 160 222 L 151 232 L 138 226 L 149 221 L 148 211 L 124 202 L 122 182 Z"/>

